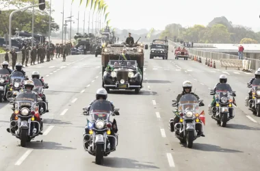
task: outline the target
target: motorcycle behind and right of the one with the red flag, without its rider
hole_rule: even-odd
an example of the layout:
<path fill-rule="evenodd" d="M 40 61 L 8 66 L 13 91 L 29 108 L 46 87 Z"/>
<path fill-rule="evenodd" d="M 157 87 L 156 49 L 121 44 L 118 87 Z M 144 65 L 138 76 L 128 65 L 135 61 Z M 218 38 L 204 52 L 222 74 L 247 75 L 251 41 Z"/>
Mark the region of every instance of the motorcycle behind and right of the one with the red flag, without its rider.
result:
<path fill-rule="evenodd" d="M 229 116 L 230 112 L 235 116 L 233 107 L 234 94 L 235 91 L 232 91 L 231 86 L 227 83 L 220 83 L 216 87 L 216 106 L 209 105 L 209 115 L 212 115 L 211 118 L 216 120 L 221 127 L 226 127 L 226 122 L 234 118 Z M 214 90 L 211 90 L 210 95 L 214 95 Z"/>

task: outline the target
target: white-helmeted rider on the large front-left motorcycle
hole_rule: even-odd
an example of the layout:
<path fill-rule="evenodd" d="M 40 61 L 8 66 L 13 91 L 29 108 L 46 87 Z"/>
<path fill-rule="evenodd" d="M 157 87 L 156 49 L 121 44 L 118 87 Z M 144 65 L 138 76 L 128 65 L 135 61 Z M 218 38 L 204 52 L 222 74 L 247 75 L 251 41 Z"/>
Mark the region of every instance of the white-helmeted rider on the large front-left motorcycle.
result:
<path fill-rule="evenodd" d="M 34 81 L 27 80 L 27 81 L 25 81 L 25 89 L 24 90 L 20 90 L 19 94 L 28 93 L 28 92 L 31 93 L 31 90 L 33 90 L 33 89 L 34 89 Z M 37 95 L 36 94 L 34 94 L 34 95 L 36 96 L 36 99 L 37 99 Z M 14 120 L 15 116 L 16 116 L 16 114 L 12 113 L 10 121 Z M 40 128 L 42 128 L 42 119 L 40 119 Z M 12 127 L 11 130 L 10 130 L 10 128 L 8 128 L 8 129 L 6 129 L 6 131 L 8 131 L 8 133 L 10 133 L 10 131 L 12 131 L 12 133 L 15 133 L 15 131 L 17 129 L 18 129 L 18 126 Z M 39 134 L 42 134 L 42 133 L 39 133 Z"/>

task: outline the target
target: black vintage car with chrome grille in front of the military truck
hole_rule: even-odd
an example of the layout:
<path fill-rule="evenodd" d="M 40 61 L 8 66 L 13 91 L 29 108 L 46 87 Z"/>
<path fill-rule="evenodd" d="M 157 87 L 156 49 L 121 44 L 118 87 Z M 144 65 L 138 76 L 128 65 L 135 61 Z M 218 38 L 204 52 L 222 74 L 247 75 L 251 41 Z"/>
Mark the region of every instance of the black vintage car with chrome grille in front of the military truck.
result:
<path fill-rule="evenodd" d="M 135 90 L 139 94 L 142 87 L 142 72 L 135 60 L 109 60 L 103 73 L 103 86 L 110 89 Z"/>

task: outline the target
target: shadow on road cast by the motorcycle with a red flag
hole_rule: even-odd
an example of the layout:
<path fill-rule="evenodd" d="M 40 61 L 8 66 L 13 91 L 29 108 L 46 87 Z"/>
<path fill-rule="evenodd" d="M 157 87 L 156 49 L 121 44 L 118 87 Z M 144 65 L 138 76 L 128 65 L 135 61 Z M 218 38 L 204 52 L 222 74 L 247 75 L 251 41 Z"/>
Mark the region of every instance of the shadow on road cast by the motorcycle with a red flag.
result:
<path fill-rule="evenodd" d="M 228 148 L 221 148 L 220 146 L 212 145 L 212 144 L 194 144 L 192 149 L 194 150 L 202 150 L 202 151 L 215 151 L 222 153 L 244 153 L 241 150 L 232 150 Z"/>

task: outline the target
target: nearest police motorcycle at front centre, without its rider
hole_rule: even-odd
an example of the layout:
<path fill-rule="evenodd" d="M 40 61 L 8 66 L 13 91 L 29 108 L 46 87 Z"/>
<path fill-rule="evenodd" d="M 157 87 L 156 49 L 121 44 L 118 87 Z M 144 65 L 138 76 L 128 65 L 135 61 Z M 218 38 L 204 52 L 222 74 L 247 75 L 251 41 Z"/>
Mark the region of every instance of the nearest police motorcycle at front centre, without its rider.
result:
<path fill-rule="evenodd" d="M 85 133 L 83 133 L 83 147 L 90 155 L 96 157 L 96 164 L 101 164 L 103 157 L 116 150 L 118 145 L 118 134 L 112 132 L 114 125 L 109 121 L 109 118 L 115 116 L 119 109 L 112 111 L 111 103 L 103 100 L 92 103 L 90 111 L 88 111 L 88 107 L 83 107 L 83 113 L 88 113 L 87 115 L 91 116 L 91 120 L 88 120 L 85 127 Z M 112 139 L 115 142 L 114 149 L 110 149 Z"/>

